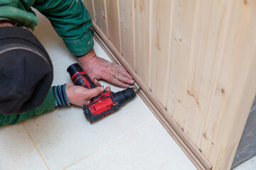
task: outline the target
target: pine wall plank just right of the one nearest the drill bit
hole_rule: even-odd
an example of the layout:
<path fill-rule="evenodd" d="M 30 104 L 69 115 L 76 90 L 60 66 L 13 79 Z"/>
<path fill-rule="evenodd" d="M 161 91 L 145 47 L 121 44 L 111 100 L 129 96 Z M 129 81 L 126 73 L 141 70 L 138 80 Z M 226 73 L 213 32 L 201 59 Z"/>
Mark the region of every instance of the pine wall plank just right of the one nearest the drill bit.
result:
<path fill-rule="evenodd" d="M 167 81 L 166 70 L 169 69 L 169 38 L 171 37 L 171 2 L 169 0 L 152 1 L 151 11 L 151 68 L 150 86 L 152 94 L 165 106 Z"/>

